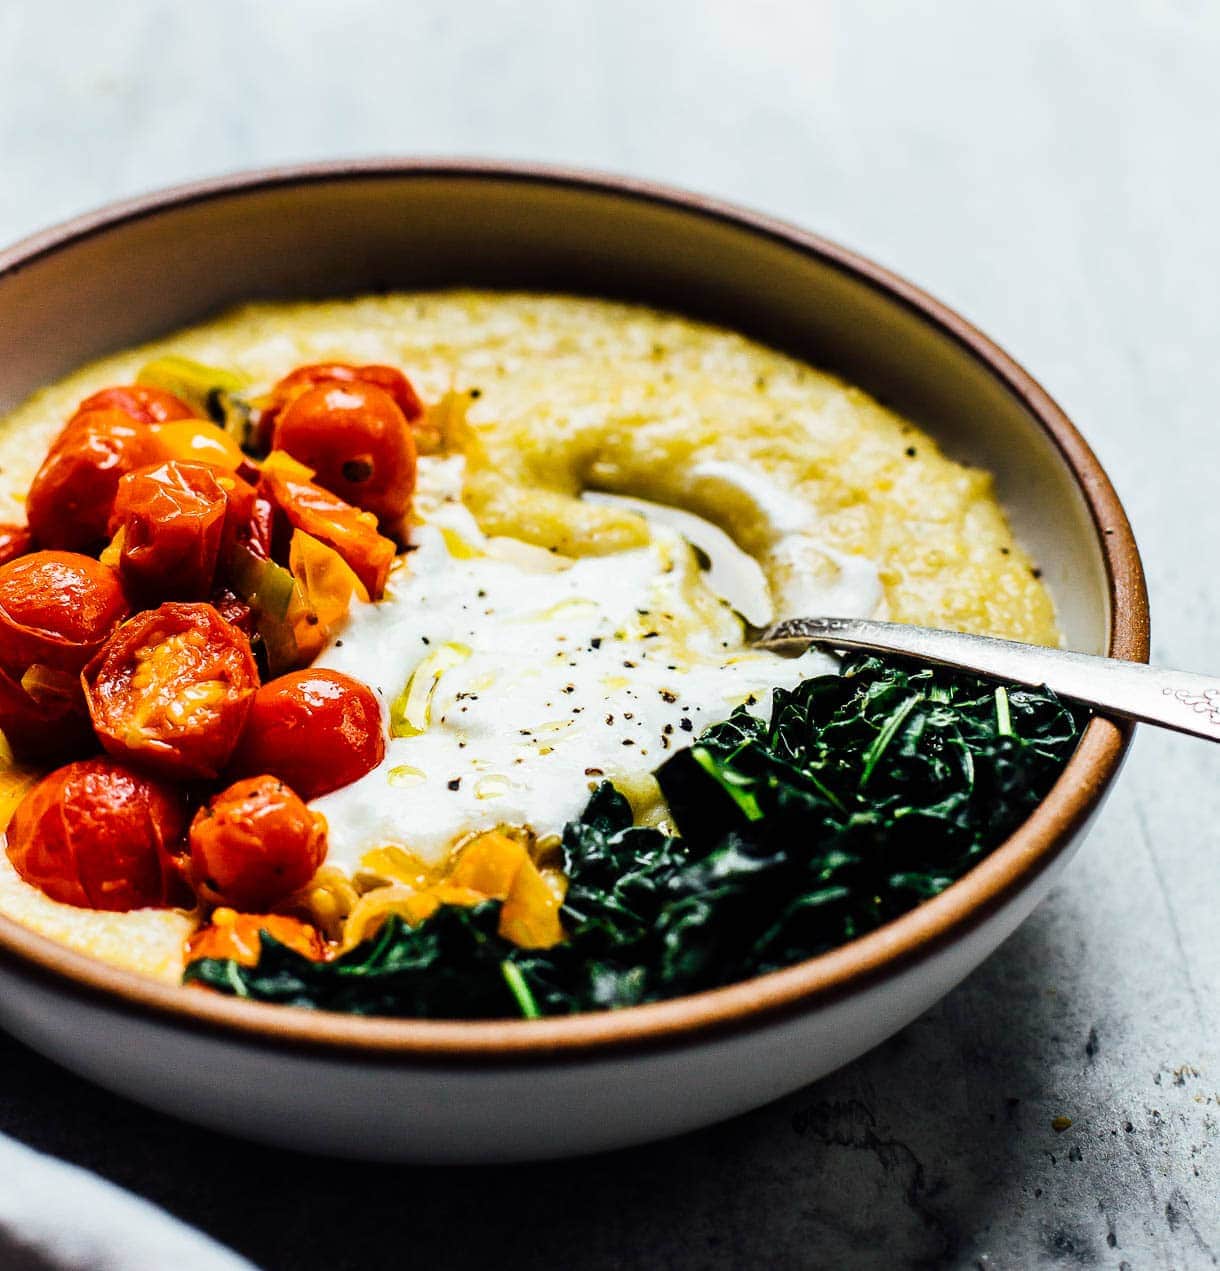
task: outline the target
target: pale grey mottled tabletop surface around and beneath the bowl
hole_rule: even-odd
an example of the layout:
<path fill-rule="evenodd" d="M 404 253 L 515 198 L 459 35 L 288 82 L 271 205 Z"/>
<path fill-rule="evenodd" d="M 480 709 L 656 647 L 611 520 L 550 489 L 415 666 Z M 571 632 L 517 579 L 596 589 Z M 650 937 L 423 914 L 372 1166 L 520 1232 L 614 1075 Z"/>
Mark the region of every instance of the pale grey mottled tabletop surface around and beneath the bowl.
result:
<path fill-rule="evenodd" d="M 1206 0 L 8 0 L 0 240 L 200 174 L 374 153 L 766 208 L 1042 379 L 1127 502 L 1155 656 L 1216 670 L 1217 55 Z M 186 1129 L 11 1042 L 0 1129 L 268 1268 L 1214 1266 L 1217 778 L 1220 752 L 1141 735 L 1062 885 L 965 985 L 835 1077 L 671 1144 L 334 1166 Z"/>

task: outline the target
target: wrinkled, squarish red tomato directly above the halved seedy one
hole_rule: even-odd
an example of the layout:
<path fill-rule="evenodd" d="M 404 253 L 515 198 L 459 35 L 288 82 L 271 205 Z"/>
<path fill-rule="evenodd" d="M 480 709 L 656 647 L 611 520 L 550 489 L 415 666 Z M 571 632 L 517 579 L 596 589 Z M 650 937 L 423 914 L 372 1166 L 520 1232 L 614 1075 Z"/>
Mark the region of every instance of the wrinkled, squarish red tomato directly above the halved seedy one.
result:
<path fill-rule="evenodd" d="M 200 600 L 211 592 L 229 506 L 224 486 L 239 479 L 169 459 L 118 483 L 111 533 L 122 535 L 118 569 L 133 595 Z"/>

